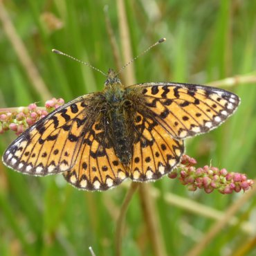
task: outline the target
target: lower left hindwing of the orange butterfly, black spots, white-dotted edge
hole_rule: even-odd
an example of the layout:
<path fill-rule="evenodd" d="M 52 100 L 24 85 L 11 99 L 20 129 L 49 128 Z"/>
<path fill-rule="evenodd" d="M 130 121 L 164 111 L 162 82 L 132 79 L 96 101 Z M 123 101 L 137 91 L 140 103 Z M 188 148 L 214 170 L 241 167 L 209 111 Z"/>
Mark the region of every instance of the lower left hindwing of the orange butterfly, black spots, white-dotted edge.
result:
<path fill-rule="evenodd" d="M 64 178 L 83 190 L 107 190 L 120 184 L 128 176 L 116 156 L 109 134 L 107 119 L 95 122 L 80 145 L 75 165 L 64 172 Z"/>

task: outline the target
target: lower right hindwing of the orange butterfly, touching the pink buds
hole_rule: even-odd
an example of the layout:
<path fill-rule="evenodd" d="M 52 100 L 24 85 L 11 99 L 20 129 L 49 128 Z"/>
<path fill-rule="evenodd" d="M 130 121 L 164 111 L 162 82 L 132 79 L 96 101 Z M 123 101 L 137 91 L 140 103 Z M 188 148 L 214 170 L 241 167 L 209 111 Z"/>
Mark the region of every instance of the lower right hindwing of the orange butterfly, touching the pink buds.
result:
<path fill-rule="evenodd" d="M 171 172 L 184 152 L 183 140 L 176 140 L 147 111 L 136 113 L 136 141 L 131 158 L 130 178 L 152 181 Z"/>

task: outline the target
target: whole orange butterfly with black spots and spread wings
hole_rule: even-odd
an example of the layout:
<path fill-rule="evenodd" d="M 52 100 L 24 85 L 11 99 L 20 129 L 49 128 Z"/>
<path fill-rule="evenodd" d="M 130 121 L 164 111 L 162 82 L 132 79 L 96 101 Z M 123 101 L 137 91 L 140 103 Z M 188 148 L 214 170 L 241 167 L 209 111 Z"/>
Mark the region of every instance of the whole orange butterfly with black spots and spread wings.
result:
<path fill-rule="evenodd" d="M 185 138 L 221 125 L 239 102 L 197 84 L 124 86 L 109 69 L 103 91 L 37 121 L 10 144 L 3 163 L 34 176 L 62 173 L 82 190 L 108 190 L 127 178 L 155 181 L 179 164 Z"/>

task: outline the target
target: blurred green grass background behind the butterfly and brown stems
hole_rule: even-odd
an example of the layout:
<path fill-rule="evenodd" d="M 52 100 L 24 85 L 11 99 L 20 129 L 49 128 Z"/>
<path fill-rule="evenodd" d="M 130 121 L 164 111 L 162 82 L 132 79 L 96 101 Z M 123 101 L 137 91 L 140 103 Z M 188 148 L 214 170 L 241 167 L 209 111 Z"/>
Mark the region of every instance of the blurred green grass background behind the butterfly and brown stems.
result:
<path fill-rule="evenodd" d="M 104 77 L 91 68 L 54 55 L 57 48 L 107 72 L 116 68 L 104 19 L 104 6 L 120 46 L 120 22 L 116 1 L 4 1 L 17 34 L 39 69 L 48 90 L 67 102 L 101 90 Z M 207 84 L 226 77 L 256 77 L 256 1 L 161 0 L 125 1 L 129 41 L 137 55 L 166 37 L 167 42 L 149 51 L 134 64 L 137 82 L 190 82 Z M 52 30 L 43 19 L 51 12 L 63 23 Z M 33 86 L 0 21 L 1 107 L 44 104 Z M 121 53 L 122 54 L 122 53 Z M 237 80 L 239 81 L 239 80 Z M 224 89 L 241 97 L 241 105 L 219 129 L 187 141 L 186 152 L 199 161 L 246 173 L 255 178 L 256 86 L 238 82 Z M 10 132 L 0 137 L 0 155 L 14 139 Z M 35 178 L 8 170 L 0 163 L 0 255 L 114 255 L 116 217 L 127 184 L 108 192 L 82 192 L 65 183 L 62 176 Z M 213 226 L 214 220 L 167 203 L 165 195 L 207 205 L 223 213 L 241 194 L 188 192 L 178 180 L 167 177 L 153 184 L 158 219 L 167 255 L 186 255 Z M 153 200 L 153 199 L 152 199 Z M 256 229 L 255 198 L 237 213 L 236 226 L 226 226 L 205 246 L 201 255 L 255 255 L 255 233 L 241 230 L 242 221 Z M 254 239 L 254 240 L 253 240 Z M 245 253 L 246 251 L 246 253 Z M 154 255 L 138 194 L 127 212 L 123 255 Z"/>

